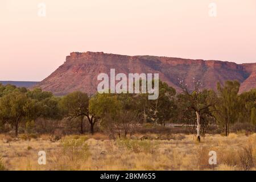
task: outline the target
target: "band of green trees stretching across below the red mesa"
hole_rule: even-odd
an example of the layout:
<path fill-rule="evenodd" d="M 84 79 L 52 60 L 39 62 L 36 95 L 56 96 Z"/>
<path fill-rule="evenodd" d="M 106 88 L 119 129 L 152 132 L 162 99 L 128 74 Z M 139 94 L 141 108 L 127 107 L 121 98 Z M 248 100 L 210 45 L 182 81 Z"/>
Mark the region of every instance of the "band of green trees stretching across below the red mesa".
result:
<path fill-rule="evenodd" d="M 133 135 L 144 123 L 165 126 L 182 123 L 194 126 L 200 140 L 211 126 L 217 126 L 226 136 L 236 122 L 250 123 L 256 132 L 256 89 L 238 94 L 240 83 L 226 81 L 217 84 L 217 92 L 203 90 L 200 81 L 193 81 L 189 90 L 181 80 L 182 93 L 159 81 L 159 97 L 148 100 L 147 94 L 99 94 L 73 92 L 63 97 L 53 96 L 41 89 L 28 90 L 0 84 L 0 131 L 52 132 L 60 127 L 59 121 L 71 129 L 79 126 L 90 133 L 95 126 L 112 138 Z M 52 125 L 56 123 L 56 125 Z M 75 125 L 73 125 L 75 123 Z M 47 130 L 51 125 L 52 130 Z M 44 130 L 42 130 L 42 128 Z"/>

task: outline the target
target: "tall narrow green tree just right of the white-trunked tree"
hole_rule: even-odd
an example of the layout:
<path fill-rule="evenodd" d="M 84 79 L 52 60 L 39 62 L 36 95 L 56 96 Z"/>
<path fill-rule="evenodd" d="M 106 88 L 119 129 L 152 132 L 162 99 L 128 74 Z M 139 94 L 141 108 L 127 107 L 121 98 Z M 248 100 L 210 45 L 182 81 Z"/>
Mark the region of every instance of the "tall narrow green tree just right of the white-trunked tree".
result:
<path fill-rule="evenodd" d="M 217 121 L 222 123 L 225 128 L 225 135 L 229 135 L 230 123 L 237 121 L 240 102 L 238 92 L 240 83 L 238 81 L 226 81 L 224 86 L 220 82 L 217 84 L 218 104 L 216 105 L 215 116 Z"/>

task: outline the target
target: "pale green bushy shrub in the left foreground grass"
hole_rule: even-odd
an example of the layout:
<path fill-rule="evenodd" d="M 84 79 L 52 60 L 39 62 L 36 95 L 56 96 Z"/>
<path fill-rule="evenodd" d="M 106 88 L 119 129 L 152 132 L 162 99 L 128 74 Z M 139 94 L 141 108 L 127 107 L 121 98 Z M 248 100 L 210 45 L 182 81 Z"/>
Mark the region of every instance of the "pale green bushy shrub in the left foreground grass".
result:
<path fill-rule="evenodd" d="M 85 143 L 85 138 L 68 139 L 65 138 L 62 142 L 63 153 L 68 160 L 77 162 L 78 160 L 86 160 L 89 155 L 89 146 Z"/>

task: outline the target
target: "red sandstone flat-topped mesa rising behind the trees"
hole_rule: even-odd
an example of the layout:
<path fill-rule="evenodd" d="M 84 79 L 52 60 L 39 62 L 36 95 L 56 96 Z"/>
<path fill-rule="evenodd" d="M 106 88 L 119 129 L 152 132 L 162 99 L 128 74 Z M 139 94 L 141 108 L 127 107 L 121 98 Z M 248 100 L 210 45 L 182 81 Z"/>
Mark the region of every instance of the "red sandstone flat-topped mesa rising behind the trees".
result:
<path fill-rule="evenodd" d="M 190 89 L 192 80 L 200 80 L 206 89 L 216 90 L 218 81 L 241 82 L 241 92 L 256 88 L 256 63 L 236 64 L 216 60 L 192 60 L 157 56 L 123 56 L 103 52 L 72 52 L 55 72 L 37 86 L 56 95 L 64 95 L 75 90 L 94 93 L 97 91 L 97 76 L 117 73 L 159 73 L 160 80 L 167 82 L 178 92 L 179 79 L 183 79 Z"/>

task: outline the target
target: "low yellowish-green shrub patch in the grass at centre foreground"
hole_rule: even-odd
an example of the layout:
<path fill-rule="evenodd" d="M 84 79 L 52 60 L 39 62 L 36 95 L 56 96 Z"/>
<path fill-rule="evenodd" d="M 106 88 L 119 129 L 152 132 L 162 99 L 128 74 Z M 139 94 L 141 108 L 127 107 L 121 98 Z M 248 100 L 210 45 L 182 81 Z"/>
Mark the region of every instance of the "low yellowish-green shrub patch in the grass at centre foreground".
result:
<path fill-rule="evenodd" d="M 158 142 L 150 140 L 133 140 L 133 139 L 119 139 L 116 141 L 118 147 L 131 150 L 134 153 L 150 153 L 152 154 L 157 146 Z"/>

